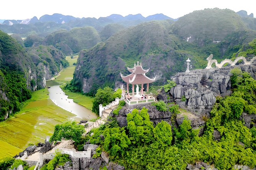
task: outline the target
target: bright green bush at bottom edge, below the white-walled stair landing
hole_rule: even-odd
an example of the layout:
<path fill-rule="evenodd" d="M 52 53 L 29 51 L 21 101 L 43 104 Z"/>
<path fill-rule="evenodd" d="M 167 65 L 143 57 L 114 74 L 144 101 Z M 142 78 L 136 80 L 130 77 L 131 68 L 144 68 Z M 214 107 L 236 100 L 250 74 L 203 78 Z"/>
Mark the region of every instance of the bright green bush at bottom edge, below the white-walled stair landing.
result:
<path fill-rule="evenodd" d="M 68 154 L 60 154 L 57 152 L 54 158 L 44 165 L 41 170 L 55 170 L 57 166 L 63 166 L 68 161 L 71 162 Z"/>

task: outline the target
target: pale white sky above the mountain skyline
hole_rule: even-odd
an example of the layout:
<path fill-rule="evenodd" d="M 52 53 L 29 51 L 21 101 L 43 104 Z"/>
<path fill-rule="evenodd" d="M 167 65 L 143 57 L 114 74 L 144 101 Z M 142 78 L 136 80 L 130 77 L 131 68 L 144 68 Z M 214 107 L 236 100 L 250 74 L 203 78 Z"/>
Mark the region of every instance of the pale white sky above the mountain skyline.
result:
<path fill-rule="evenodd" d="M 252 0 L 3 0 L 0 3 L 0 19 L 38 19 L 44 14 L 60 13 L 78 18 L 106 17 L 111 14 L 163 13 L 173 19 L 205 8 L 240 10 L 253 13 L 256 8 Z"/>

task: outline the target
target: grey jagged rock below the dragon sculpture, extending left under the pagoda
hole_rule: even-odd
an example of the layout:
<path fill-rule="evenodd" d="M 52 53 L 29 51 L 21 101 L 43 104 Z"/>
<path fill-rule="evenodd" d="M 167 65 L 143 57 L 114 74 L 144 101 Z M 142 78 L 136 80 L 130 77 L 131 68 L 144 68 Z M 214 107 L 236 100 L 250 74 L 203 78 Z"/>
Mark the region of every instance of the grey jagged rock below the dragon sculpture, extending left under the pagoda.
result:
<path fill-rule="evenodd" d="M 132 111 L 132 109 L 142 109 L 146 107 L 150 120 L 156 125 L 161 120 L 165 120 L 169 124 L 172 121 L 176 126 L 180 125 L 184 120 L 184 115 L 191 120 L 192 128 L 199 128 L 205 124 L 203 117 L 210 117 L 210 110 L 215 103 L 216 96 L 230 95 L 232 91 L 230 77 L 231 69 L 240 67 L 242 71 L 249 72 L 251 77 L 256 79 L 256 66 L 254 65 L 238 65 L 224 68 L 213 69 L 197 69 L 192 70 L 189 73 L 178 73 L 174 79 L 176 86 L 171 88 L 168 93 L 164 90 L 157 96 L 158 100 L 163 100 L 165 103 L 175 102 L 179 107 L 186 109 L 182 114 L 173 115 L 170 111 L 161 112 L 156 109 L 155 106 L 137 105 L 137 106 L 124 106 L 119 111 L 118 115 L 112 114 L 116 117 L 120 127 L 127 126 L 126 115 Z M 250 126 L 251 115 L 243 114 L 246 126 Z M 254 118 L 254 117 L 253 117 Z M 203 129 L 201 129 L 202 132 Z"/>

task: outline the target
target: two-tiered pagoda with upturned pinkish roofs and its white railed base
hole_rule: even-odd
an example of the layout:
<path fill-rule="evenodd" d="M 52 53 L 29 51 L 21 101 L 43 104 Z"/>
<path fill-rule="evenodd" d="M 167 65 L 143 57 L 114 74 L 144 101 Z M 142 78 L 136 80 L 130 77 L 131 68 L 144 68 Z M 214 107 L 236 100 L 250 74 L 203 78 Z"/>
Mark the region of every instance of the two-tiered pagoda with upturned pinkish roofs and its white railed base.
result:
<path fill-rule="evenodd" d="M 145 70 L 142 68 L 142 64 L 137 61 L 134 63 L 133 68 L 127 67 L 128 71 L 131 72 L 131 74 L 124 76 L 121 73 L 122 80 L 126 82 L 127 87 L 127 93 L 124 94 L 124 91 L 122 93 L 122 99 L 125 99 L 126 103 L 130 104 L 138 104 L 138 103 L 148 103 L 155 101 L 155 98 L 153 96 L 145 95 L 143 92 L 143 84 L 147 84 L 147 92 L 148 92 L 148 84 L 155 81 L 155 77 L 153 79 L 150 79 L 145 75 L 149 71 L 149 69 Z M 129 93 L 129 84 L 132 84 L 132 93 Z M 134 95 L 134 85 L 137 85 L 136 88 L 136 95 Z M 141 90 L 139 91 L 139 86 L 141 85 Z"/>

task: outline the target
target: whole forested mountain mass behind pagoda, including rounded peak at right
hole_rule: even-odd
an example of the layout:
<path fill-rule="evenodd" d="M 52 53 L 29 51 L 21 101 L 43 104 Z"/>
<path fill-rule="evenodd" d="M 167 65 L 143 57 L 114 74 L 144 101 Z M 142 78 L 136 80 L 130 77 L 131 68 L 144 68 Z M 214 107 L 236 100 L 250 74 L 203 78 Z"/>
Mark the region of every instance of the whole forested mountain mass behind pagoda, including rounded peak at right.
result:
<path fill-rule="evenodd" d="M 227 9 L 194 11 L 176 22 L 143 22 L 82 50 L 71 89 L 88 93 L 98 87 L 114 88 L 122 83 L 120 71 L 129 74 L 126 66 L 132 67 L 136 61 L 150 67 L 148 77 L 156 76 L 155 84 L 161 84 L 185 71 L 188 58 L 191 69 L 205 68 L 210 54 L 220 61 L 232 58 L 254 38 L 256 31 L 246 28 L 241 16 Z"/>

